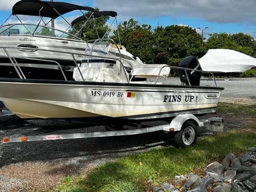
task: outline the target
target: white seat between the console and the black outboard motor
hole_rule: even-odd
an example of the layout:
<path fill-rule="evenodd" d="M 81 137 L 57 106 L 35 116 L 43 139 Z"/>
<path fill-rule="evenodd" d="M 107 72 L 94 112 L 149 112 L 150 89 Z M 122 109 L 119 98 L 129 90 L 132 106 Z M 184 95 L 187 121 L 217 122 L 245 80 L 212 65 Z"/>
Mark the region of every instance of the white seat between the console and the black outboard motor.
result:
<path fill-rule="evenodd" d="M 133 72 L 131 73 L 133 76 L 136 77 L 152 77 L 152 76 L 158 76 L 158 73 L 160 72 L 160 76 L 168 76 L 170 73 L 170 67 L 164 67 L 168 66 L 165 64 L 137 64 L 133 66 Z M 164 67 L 164 68 L 162 68 Z"/>

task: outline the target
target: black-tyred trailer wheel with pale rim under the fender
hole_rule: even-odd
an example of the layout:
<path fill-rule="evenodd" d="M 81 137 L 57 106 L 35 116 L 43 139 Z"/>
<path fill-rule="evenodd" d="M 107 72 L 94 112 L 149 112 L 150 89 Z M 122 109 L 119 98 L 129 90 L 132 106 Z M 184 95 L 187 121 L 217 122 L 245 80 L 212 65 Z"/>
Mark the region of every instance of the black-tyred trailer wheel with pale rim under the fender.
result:
<path fill-rule="evenodd" d="M 182 125 L 181 131 L 175 134 L 174 139 L 175 144 L 182 148 L 195 144 L 197 139 L 195 123 L 190 120 L 185 121 Z"/>

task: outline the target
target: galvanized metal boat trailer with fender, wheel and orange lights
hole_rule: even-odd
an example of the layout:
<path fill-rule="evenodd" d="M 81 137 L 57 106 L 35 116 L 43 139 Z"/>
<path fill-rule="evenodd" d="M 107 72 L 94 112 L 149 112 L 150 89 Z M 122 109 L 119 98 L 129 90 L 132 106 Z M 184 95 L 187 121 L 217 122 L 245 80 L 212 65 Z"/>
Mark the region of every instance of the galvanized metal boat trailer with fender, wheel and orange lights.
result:
<path fill-rule="evenodd" d="M 94 137 L 111 137 L 111 136 L 124 136 L 124 135 L 137 135 L 149 132 L 165 131 L 173 133 L 175 144 L 178 147 L 188 147 L 195 144 L 197 138 L 197 127 L 203 127 L 204 122 L 210 122 L 210 127 L 214 126 L 217 130 L 223 130 L 222 118 L 210 118 L 208 120 L 199 121 L 192 114 L 181 114 L 176 116 L 171 123 L 141 128 L 132 130 L 118 130 L 118 131 L 105 131 L 105 132 L 83 132 L 83 133 L 68 133 L 68 134 L 46 134 L 46 135 L 26 135 L 26 133 L 17 136 L 11 135 L 3 137 L 0 144 L 17 143 L 17 142 L 32 142 L 32 141 L 51 141 L 62 139 L 81 139 L 81 138 L 94 138 Z M 107 129 L 108 127 L 106 127 Z M 109 130 L 109 129 L 107 129 Z M 43 129 L 35 130 L 37 133 L 44 132 Z M 56 130 L 50 130 L 56 131 Z M 49 132 L 46 130 L 45 132 Z M 31 132 L 29 132 L 31 133 Z"/>

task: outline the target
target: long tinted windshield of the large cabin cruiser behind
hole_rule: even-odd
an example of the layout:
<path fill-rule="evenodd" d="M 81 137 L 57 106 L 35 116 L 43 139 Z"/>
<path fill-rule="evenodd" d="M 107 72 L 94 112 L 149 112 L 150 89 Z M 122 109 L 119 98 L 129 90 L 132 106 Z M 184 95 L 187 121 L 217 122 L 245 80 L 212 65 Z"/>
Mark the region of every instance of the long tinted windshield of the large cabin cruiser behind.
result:
<path fill-rule="evenodd" d="M 35 31 L 36 30 L 36 31 Z M 33 34 L 34 33 L 34 34 Z M 4 25 L 0 28 L 0 35 L 35 35 L 35 36 L 51 36 L 57 38 L 67 38 L 80 40 L 78 37 L 73 36 L 64 31 L 53 29 L 48 26 L 36 24 L 13 24 Z"/>

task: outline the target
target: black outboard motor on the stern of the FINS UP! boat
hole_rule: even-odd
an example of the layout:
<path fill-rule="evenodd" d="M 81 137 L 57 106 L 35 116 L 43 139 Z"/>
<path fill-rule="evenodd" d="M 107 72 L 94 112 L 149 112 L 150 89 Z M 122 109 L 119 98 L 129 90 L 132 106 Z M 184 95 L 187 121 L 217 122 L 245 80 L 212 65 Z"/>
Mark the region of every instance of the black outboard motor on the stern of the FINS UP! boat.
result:
<path fill-rule="evenodd" d="M 184 58 L 180 62 L 179 67 L 189 68 L 194 70 L 202 70 L 202 67 L 199 61 L 194 56 L 188 56 Z M 196 72 L 194 70 L 193 71 L 187 70 L 187 76 L 192 86 L 199 86 L 202 72 Z M 179 72 L 179 77 L 182 84 L 189 85 L 185 70 L 179 69 L 178 72 Z"/>

